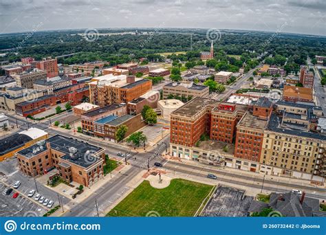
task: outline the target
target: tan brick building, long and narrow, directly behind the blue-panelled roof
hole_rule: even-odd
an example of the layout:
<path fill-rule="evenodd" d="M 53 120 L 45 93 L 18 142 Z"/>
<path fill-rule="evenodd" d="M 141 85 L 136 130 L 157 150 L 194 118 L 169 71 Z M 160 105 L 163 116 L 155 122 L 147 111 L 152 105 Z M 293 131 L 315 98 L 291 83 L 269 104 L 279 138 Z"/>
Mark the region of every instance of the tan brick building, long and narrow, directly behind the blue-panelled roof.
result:
<path fill-rule="evenodd" d="M 127 114 L 127 104 L 111 104 L 100 109 L 89 111 L 80 116 L 83 133 L 94 136 L 94 122 L 109 115 L 120 117 Z"/>

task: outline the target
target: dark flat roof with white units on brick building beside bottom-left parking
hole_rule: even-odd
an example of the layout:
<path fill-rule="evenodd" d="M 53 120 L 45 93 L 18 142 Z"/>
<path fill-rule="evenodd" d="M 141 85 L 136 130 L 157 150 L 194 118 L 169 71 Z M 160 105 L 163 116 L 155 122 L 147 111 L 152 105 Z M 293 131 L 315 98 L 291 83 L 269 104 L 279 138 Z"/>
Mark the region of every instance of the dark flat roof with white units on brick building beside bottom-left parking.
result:
<path fill-rule="evenodd" d="M 102 150 L 103 148 L 91 145 L 87 142 L 83 142 L 78 139 L 74 139 L 72 137 L 66 137 L 64 135 L 54 135 L 49 139 L 46 139 L 45 142 L 50 142 L 50 146 L 52 149 L 58 150 L 61 153 L 65 153 L 65 155 L 63 155 L 61 159 L 65 159 L 66 161 L 69 161 L 72 164 L 76 164 L 83 168 L 87 168 L 95 162 L 101 160 L 98 157 L 91 157 L 91 154 L 98 153 L 98 151 Z M 39 149 L 36 150 L 36 148 L 38 147 L 39 145 L 34 144 L 33 146 L 19 151 L 19 154 L 30 158 L 34 155 L 41 153 L 42 151 L 47 150 L 46 144 L 44 144 L 42 148 L 39 147 Z M 36 150 L 36 153 L 33 153 L 33 150 Z M 72 150 L 75 150 L 75 152 L 70 155 L 72 153 Z"/>

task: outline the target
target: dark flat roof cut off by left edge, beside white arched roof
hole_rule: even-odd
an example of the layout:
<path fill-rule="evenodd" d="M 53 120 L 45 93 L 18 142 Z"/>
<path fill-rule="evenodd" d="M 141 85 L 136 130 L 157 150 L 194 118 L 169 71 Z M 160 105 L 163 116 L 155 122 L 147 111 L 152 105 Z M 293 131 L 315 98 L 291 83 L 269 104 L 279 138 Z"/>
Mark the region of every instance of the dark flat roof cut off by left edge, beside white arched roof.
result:
<path fill-rule="evenodd" d="M 16 133 L 0 140 L 0 156 L 10 153 L 17 148 L 21 148 L 25 143 L 30 142 L 31 137 Z"/>

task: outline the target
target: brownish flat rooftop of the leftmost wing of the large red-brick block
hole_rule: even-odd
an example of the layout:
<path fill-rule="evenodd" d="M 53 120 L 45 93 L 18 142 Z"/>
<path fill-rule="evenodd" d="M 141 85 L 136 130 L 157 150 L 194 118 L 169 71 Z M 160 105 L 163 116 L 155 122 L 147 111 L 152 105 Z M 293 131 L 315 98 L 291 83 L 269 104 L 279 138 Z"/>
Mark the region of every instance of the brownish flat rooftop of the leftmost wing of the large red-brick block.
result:
<path fill-rule="evenodd" d="M 216 100 L 208 99 L 208 98 L 199 98 L 196 97 L 193 100 L 184 104 L 184 106 L 180 107 L 179 109 L 173 111 L 173 114 L 176 115 L 186 115 L 188 117 L 192 117 L 199 113 L 202 109 L 206 108 L 207 106 L 214 106 L 218 107 L 219 102 Z"/>

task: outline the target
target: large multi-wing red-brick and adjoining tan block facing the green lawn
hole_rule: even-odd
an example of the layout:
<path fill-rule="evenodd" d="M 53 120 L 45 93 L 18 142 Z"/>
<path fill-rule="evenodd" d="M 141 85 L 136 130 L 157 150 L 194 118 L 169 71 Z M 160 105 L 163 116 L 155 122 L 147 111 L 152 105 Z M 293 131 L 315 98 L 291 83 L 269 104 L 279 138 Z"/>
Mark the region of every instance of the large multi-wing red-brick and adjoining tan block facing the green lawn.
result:
<path fill-rule="evenodd" d="M 206 162 L 213 156 L 219 166 L 322 181 L 326 135 L 316 131 L 321 115 L 320 107 L 267 98 L 248 106 L 194 98 L 171 113 L 170 154 Z M 210 139 L 201 148 L 204 134 Z"/>

